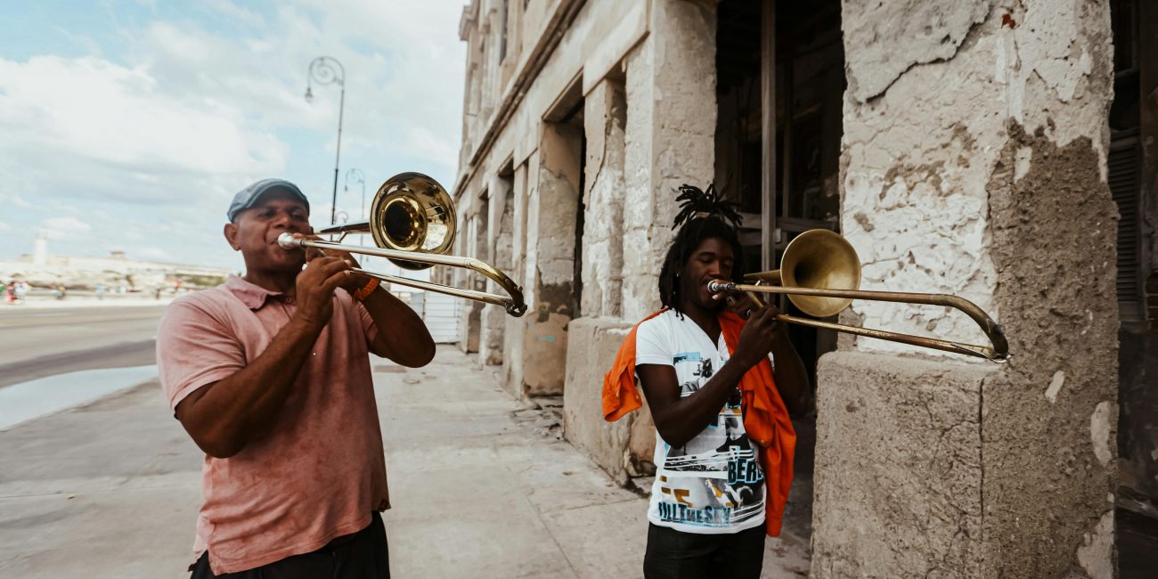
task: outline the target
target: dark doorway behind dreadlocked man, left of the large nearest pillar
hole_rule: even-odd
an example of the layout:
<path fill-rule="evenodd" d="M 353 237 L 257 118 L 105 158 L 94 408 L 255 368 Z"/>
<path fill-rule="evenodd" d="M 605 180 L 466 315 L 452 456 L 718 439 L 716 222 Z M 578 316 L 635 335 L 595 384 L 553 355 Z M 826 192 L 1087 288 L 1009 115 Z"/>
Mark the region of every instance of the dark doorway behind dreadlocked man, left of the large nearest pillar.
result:
<path fill-rule="evenodd" d="M 800 233 L 840 230 L 841 3 L 723 0 L 718 7 L 714 183 L 740 204 L 748 270 L 771 270 Z M 786 300 L 778 306 L 802 315 Z M 816 360 L 836 349 L 836 334 L 800 325 L 789 332 L 815 388 Z M 784 529 L 807 544 L 815 413 L 793 425 L 797 476 Z"/>

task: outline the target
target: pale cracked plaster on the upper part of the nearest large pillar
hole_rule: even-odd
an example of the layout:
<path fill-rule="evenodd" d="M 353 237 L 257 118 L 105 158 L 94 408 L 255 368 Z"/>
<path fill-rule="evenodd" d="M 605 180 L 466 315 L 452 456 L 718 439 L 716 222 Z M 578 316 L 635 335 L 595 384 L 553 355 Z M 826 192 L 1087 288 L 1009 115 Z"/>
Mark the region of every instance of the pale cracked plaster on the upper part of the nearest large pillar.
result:
<path fill-rule="evenodd" d="M 954 293 L 999 320 L 987 186 L 1006 120 L 1043 126 L 1060 144 L 1091 137 L 1105 151 L 1106 107 L 1094 101 L 1106 87 L 1091 94 L 1090 75 L 1108 56 L 1105 36 L 1093 43 L 1078 31 L 1087 3 L 844 3 L 842 228 L 860 255 L 865 290 Z M 1102 13 L 1098 24 L 1108 30 Z M 1032 151 L 1016 154 L 1027 170 Z M 945 308 L 857 301 L 852 312 L 870 328 L 979 340 L 972 321 Z M 872 339 L 857 347 L 919 351 Z"/>

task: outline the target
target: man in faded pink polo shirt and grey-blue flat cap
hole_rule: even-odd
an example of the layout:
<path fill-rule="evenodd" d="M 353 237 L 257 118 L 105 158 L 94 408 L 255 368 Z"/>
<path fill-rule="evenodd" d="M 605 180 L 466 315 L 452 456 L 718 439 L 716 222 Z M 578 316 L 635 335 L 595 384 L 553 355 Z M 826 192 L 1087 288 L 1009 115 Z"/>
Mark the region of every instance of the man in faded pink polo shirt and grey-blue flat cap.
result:
<path fill-rule="evenodd" d="M 206 454 L 192 577 L 389 577 L 368 354 L 424 366 L 430 332 L 350 255 L 278 245 L 313 234 L 294 184 L 257 182 L 227 215 L 245 274 L 175 300 L 156 338 L 169 405 Z"/>

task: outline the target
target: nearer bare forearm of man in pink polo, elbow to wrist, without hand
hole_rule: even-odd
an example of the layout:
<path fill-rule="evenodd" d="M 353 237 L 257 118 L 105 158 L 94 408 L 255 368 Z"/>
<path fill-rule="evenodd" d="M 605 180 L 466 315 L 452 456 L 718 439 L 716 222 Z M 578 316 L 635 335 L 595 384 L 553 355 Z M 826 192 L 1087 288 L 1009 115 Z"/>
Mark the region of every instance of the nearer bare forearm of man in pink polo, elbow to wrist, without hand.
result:
<path fill-rule="evenodd" d="M 254 361 L 178 408 L 178 418 L 207 454 L 228 457 L 269 430 L 288 398 L 321 328 L 291 320 Z M 184 404 L 184 403 L 183 403 Z"/>

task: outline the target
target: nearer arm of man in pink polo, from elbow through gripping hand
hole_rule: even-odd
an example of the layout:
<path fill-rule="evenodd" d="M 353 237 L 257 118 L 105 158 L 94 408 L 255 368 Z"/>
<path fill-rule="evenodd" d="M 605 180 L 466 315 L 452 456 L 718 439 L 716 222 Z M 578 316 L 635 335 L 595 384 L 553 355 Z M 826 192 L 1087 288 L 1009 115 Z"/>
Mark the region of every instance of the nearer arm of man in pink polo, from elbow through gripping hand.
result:
<path fill-rule="evenodd" d="M 176 408 L 177 420 L 205 454 L 228 459 L 277 420 L 310 349 L 334 314 L 334 291 L 350 265 L 321 257 L 298 276 L 293 318 L 254 361 L 233 375 L 190 393 Z"/>

